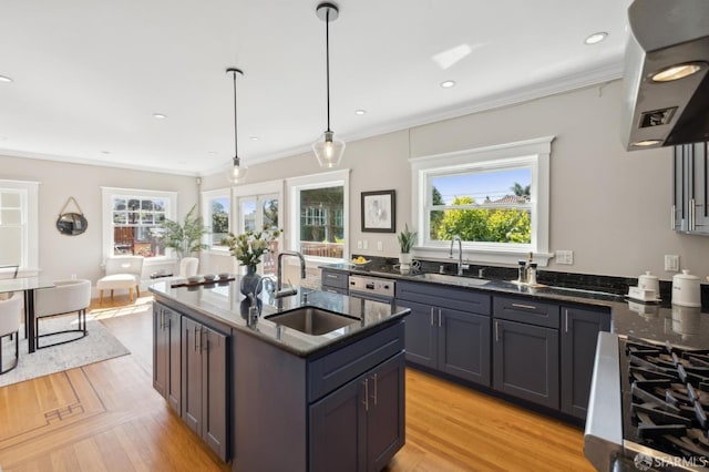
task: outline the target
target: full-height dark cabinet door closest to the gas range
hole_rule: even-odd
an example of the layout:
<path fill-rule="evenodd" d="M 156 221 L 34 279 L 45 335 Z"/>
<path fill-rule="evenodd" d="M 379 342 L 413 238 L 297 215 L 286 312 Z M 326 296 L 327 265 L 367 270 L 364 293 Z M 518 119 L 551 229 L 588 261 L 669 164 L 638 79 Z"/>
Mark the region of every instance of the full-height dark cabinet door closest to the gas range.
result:
<path fill-rule="evenodd" d="M 610 330 L 610 312 L 562 307 L 562 411 L 586 418 L 598 332 Z"/>

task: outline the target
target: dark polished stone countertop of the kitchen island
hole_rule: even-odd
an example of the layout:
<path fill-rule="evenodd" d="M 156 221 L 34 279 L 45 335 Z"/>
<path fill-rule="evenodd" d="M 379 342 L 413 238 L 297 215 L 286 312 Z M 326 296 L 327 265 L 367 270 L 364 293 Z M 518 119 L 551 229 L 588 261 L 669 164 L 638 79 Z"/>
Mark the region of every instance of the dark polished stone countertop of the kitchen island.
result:
<path fill-rule="evenodd" d="M 234 281 L 191 287 L 172 287 L 174 284 L 175 279 L 157 279 L 151 285 L 150 291 L 155 295 L 158 301 L 162 299 L 168 305 L 172 301 L 172 304 L 196 311 L 299 357 L 310 357 L 354 338 L 366 337 L 369 335 L 368 331 L 381 328 L 410 312 L 408 308 L 397 307 L 393 304 L 305 288 L 299 289 L 298 295 L 284 297 L 279 300 L 275 299 L 273 294 L 264 290 L 258 296 L 259 319 L 254 326 L 249 326 L 247 322 L 249 302 L 239 291 L 238 276 Z M 304 300 L 304 294 L 308 294 L 307 301 Z M 314 336 L 266 319 L 271 315 L 302 306 L 343 314 L 354 318 L 354 324 L 325 335 Z"/>

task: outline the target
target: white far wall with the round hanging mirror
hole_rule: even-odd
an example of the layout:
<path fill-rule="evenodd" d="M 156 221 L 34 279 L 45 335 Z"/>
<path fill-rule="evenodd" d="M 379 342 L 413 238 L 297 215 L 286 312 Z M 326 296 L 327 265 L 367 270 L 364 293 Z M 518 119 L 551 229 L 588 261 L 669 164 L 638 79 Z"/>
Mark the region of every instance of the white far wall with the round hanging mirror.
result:
<path fill-rule="evenodd" d="M 95 284 L 103 276 L 102 186 L 178 192 L 179 219 L 198 198 L 194 177 L 8 156 L 0 156 L 0 178 L 41 183 L 39 268 L 41 275 L 52 279 L 76 275 Z M 89 220 L 86 232 L 79 236 L 62 235 L 55 226 L 70 196 L 76 199 Z M 75 211 L 73 205 L 70 208 Z"/>

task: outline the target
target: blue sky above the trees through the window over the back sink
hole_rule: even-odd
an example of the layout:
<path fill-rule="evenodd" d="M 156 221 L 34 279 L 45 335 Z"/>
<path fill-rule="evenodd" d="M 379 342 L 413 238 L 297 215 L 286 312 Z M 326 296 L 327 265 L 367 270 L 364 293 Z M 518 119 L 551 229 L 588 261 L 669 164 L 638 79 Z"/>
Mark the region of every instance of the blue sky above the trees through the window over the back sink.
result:
<path fill-rule="evenodd" d="M 530 168 L 514 168 L 433 178 L 433 186 L 439 189 L 445 204 L 452 203 L 456 196 L 471 196 L 475 198 L 475 202 L 482 202 L 485 197 L 497 199 L 505 195 L 512 195 L 513 192 L 510 188 L 515 183 L 523 187 L 530 185 L 532 171 Z"/>

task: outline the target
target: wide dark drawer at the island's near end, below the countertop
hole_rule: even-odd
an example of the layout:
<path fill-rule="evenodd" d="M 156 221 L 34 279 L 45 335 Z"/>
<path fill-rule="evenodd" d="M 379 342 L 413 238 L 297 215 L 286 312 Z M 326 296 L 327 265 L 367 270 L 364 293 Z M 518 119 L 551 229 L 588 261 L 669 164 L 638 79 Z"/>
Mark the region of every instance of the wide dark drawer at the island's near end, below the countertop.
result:
<path fill-rule="evenodd" d="M 404 349 L 403 321 L 338 349 L 308 365 L 308 401 L 312 402 Z"/>

